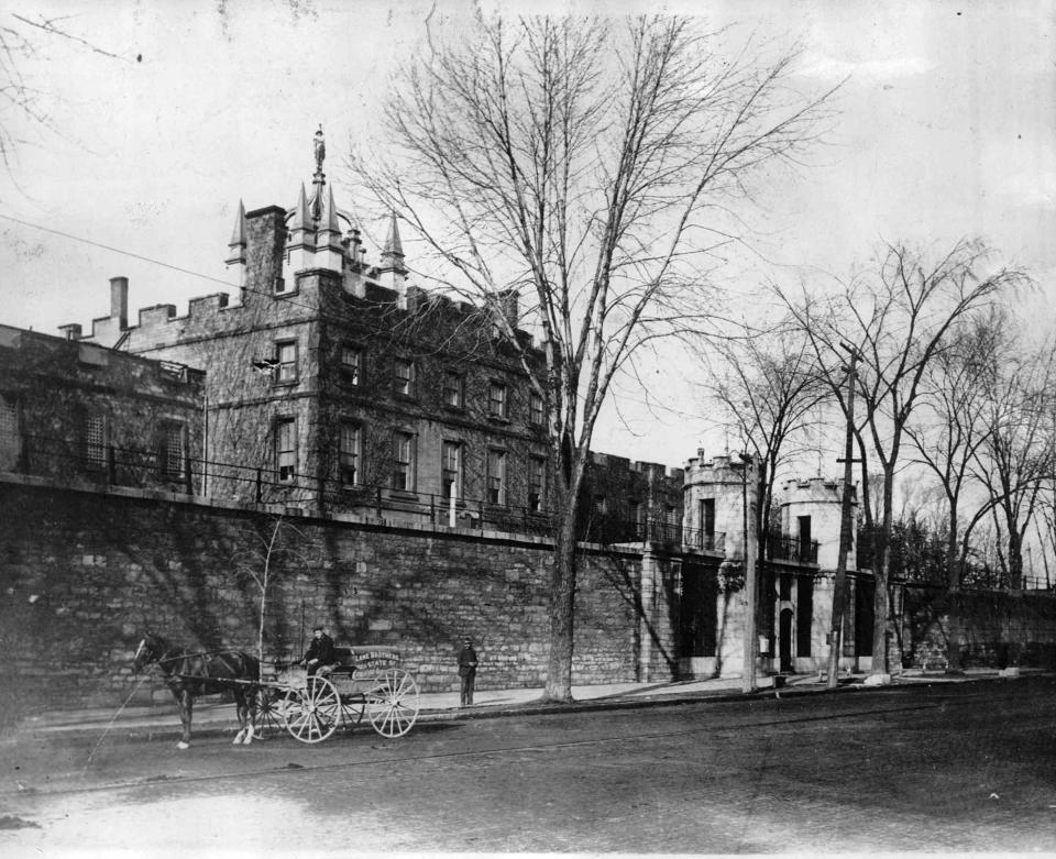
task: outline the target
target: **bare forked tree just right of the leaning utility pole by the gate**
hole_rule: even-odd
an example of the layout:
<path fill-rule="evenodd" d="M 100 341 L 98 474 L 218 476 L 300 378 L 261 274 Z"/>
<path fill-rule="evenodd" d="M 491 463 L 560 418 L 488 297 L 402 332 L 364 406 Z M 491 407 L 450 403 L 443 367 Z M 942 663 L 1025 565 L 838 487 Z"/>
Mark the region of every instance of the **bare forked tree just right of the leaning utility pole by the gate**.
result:
<path fill-rule="evenodd" d="M 926 373 L 948 348 L 958 322 L 1027 279 L 1014 268 L 989 271 L 989 256 L 981 242 L 960 241 L 934 260 L 904 244 L 889 244 L 875 273 L 840 284 L 827 299 L 807 295 L 798 301 L 781 294 L 810 337 L 823 376 L 845 414 L 843 346 L 849 343 L 860 359 L 856 398 L 861 408 L 856 414 L 861 419 L 855 434 L 862 460 L 862 510 L 867 530 L 873 535 L 876 673 L 888 667 L 895 476 L 902 465 L 906 427 L 925 390 Z M 883 476 L 879 526 L 871 521 L 867 451 Z"/>

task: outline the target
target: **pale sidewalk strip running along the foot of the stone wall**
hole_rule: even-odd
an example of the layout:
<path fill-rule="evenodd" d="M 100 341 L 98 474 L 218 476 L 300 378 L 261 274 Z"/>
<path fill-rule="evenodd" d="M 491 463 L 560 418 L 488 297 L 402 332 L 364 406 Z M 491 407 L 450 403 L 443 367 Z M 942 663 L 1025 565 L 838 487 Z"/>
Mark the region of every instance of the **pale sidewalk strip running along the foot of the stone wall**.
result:
<path fill-rule="evenodd" d="M 1023 676 L 1044 673 L 1024 670 Z M 906 671 L 892 678 L 892 686 L 914 683 L 965 683 L 978 680 L 996 680 L 997 670 L 969 670 L 963 674 L 942 672 Z M 867 687 L 866 675 L 840 676 L 837 691 Z M 788 676 L 760 676 L 759 691 L 751 696 L 800 695 L 826 692 L 825 678 L 820 674 L 800 674 Z M 876 687 L 873 687 L 876 689 Z M 506 689 L 477 690 L 473 706 L 460 707 L 458 692 L 424 693 L 419 698 L 419 723 L 444 722 L 468 718 L 493 718 L 499 716 L 526 716 L 539 713 L 586 712 L 601 708 L 627 708 L 660 706 L 704 698 L 738 700 L 746 695 L 740 678 L 718 678 L 713 680 L 668 681 L 658 683 L 613 683 L 590 686 L 573 686 L 571 705 L 546 705 L 540 702 L 542 690 Z M 202 734 L 234 734 L 238 722 L 234 705 L 218 703 L 206 697 L 195 703 L 194 731 Z M 98 737 L 109 733 L 116 737 L 148 738 L 157 735 L 176 734 L 179 730 L 179 716 L 175 703 L 155 706 L 117 708 L 82 708 L 45 712 L 24 719 L 13 731 L 15 737 L 75 738 Z"/>

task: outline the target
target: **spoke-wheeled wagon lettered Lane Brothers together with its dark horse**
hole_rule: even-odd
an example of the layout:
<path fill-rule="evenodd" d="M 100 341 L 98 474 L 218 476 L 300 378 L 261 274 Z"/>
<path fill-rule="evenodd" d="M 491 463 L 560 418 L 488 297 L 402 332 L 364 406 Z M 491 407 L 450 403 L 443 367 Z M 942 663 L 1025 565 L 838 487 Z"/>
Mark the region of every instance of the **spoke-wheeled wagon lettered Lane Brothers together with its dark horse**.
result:
<path fill-rule="evenodd" d="M 190 744 L 195 696 L 228 691 L 239 718 L 235 742 L 279 730 L 301 742 L 321 742 L 341 725 L 355 727 L 364 718 L 383 737 L 407 734 L 418 719 L 419 692 L 414 675 L 399 667 L 398 651 L 339 647 L 337 652 L 338 664 L 309 675 L 299 663 L 261 663 L 242 651 L 194 652 L 147 635 L 134 668 L 158 667 L 179 708 L 179 748 Z"/>

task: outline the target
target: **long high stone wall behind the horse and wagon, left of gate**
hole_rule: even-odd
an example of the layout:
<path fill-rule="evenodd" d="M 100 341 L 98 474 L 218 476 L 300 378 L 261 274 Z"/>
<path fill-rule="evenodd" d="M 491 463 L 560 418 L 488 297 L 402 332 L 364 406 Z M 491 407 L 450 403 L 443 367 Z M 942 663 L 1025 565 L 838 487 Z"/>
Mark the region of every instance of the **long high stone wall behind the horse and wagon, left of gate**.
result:
<path fill-rule="evenodd" d="M 260 550 L 280 521 L 268 658 L 299 658 L 321 620 L 338 643 L 397 647 L 422 691 L 452 691 L 455 649 L 469 635 L 482 657 L 479 687 L 542 685 L 549 542 L 345 519 L 279 520 L 165 492 L 72 491 L 8 475 L 0 680 L 34 706 L 118 705 L 135 689 L 145 630 L 204 651 L 255 652 L 260 591 L 242 568 L 263 572 Z M 640 553 L 584 548 L 573 683 L 638 679 L 640 571 Z M 671 651 L 668 640 L 659 646 Z M 167 695 L 153 681 L 133 701 Z"/>

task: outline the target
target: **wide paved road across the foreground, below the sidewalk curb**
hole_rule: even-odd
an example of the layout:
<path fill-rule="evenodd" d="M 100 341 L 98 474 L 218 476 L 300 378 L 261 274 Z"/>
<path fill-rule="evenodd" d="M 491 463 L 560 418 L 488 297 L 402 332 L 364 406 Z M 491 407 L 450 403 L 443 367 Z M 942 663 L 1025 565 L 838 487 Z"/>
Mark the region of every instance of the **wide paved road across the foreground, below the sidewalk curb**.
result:
<path fill-rule="evenodd" d="M 0 854 L 1056 850 L 1056 682 L 0 749 Z M 197 855 L 197 854 L 196 854 Z"/>

